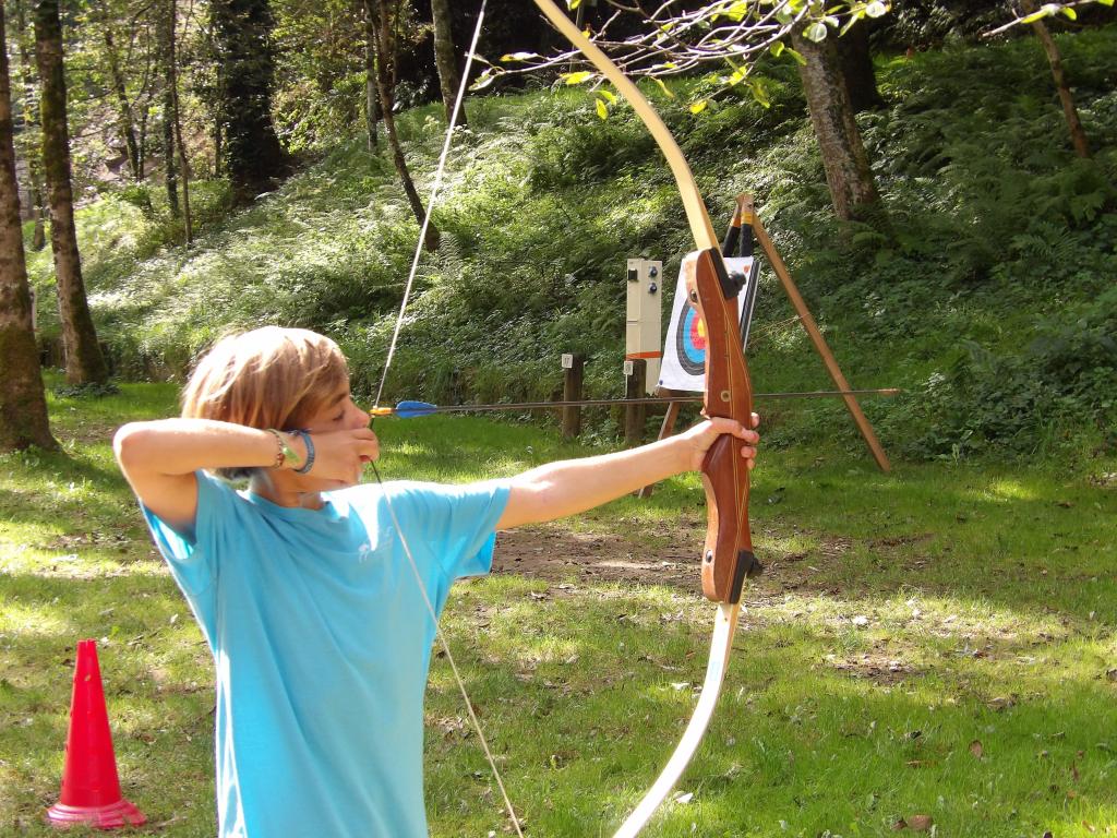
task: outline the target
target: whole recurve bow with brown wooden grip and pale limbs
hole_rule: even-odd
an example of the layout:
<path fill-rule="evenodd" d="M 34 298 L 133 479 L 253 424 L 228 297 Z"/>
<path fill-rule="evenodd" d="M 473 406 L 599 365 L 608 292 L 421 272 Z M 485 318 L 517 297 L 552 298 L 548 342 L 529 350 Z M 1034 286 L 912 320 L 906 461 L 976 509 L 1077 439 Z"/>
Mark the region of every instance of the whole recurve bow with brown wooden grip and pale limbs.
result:
<path fill-rule="evenodd" d="M 535 0 L 535 4 L 628 99 L 667 159 L 697 248 L 684 259 L 682 268 L 690 303 L 706 324 L 704 412 L 709 418 L 727 417 L 751 428 L 753 393 L 737 322 L 739 279 L 731 276 L 722 259 L 714 226 L 690 166 L 671 132 L 632 80 L 551 0 Z M 701 695 L 671 758 L 614 838 L 638 835 L 670 793 L 697 751 L 722 692 L 741 611 L 742 587 L 746 577 L 761 569 L 753 553 L 748 525 L 748 469 L 741 456 L 743 445 L 737 437 L 720 437 L 701 467 L 708 518 L 701 556 L 703 593 L 717 603 Z"/>

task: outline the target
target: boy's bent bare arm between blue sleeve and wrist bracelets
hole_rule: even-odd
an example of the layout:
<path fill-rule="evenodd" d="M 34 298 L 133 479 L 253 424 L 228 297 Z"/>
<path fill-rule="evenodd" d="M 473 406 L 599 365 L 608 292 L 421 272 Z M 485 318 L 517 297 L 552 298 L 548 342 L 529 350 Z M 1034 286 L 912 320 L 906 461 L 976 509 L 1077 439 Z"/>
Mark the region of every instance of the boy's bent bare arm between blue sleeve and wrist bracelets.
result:
<path fill-rule="evenodd" d="M 179 532 L 198 514 L 200 468 L 274 466 L 277 442 L 266 430 L 210 419 L 130 422 L 113 439 L 116 460 L 141 503 Z"/>

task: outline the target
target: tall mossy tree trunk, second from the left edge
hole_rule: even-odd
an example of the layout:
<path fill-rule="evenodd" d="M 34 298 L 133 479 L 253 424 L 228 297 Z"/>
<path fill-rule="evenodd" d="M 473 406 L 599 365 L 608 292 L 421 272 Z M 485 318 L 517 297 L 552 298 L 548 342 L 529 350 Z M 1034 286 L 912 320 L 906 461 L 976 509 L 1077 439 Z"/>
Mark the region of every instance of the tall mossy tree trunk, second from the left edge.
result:
<path fill-rule="evenodd" d="M 63 327 L 63 346 L 66 350 L 66 380 L 71 384 L 103 383 L 108 380 L 108 368 L 97 343 L 97 332 L 85 296 L 82 258 L 74 226 L 63 26 L 58 18 L 58 0 L 39 0 L 35 13 L 35 53 L 42 85 L 42 165 L 50 193 L 50 246 L 55 256 L 58 316 Z"/>

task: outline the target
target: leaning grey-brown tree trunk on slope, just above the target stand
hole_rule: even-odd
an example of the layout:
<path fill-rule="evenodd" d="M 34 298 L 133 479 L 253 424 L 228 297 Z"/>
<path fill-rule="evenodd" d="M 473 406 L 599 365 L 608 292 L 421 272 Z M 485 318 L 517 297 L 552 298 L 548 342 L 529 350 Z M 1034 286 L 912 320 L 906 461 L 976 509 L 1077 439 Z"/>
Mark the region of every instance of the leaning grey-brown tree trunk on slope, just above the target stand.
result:
<path fill-rule="evenodd" d="M 832 38 L 815 44 L 796 28 L 791 39 L 795 50 L 806 59 L 806 65 L 800 66 L 799 75 L 803 80 L 811 125 L 822 152 L 822 166 L 834 212 L 844 221 L 871 215 L 880 196 L 861 143 L 861 133 L 853 120 L 853 108 Z"/>

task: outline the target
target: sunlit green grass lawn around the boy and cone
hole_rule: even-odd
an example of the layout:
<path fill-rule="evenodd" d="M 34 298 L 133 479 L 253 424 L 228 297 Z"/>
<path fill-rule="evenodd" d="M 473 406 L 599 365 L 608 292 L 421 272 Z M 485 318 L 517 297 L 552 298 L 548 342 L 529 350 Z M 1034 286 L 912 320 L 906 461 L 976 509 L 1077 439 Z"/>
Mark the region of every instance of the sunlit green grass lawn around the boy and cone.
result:
<path fill-rule="evenodd" d="M 0 457 L 0 835 L 54 835 L 74 645 L 98 638 L 140 832 L 212 836 L 212 676 L 115 469 L 112 429 L 170 385 L 54 398 L 65 454 Z M 590 453 L 474 418 L 378 423 L 385 477 L 468 480 Z M 753 484 L 767 573 L 720 706 L 658 836 L 1117 835 L 1117 466 L 908 466 L 768 450 Z M 577 562 L 458 587 L 443 620 L 535 836 L 611 835 L 695 702 L 714 608 L 697 593 L 694 477 L 534 531 L 609 539 L 628 581 Z M 652 584 L 641 558 L 694 562 Z M 499 554 L 499 545 L 498 545 Z M 695 556 L 694 560 L 684 556 Z M 498 555 L 499 561 L 499 555 Z M 427 703 L 435 836 L 504 834 L 443 660 Z M 355 724 L 360 720 L 354 721 Z M 74 834 L 80 835 L 80 830 Z"/>

